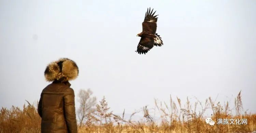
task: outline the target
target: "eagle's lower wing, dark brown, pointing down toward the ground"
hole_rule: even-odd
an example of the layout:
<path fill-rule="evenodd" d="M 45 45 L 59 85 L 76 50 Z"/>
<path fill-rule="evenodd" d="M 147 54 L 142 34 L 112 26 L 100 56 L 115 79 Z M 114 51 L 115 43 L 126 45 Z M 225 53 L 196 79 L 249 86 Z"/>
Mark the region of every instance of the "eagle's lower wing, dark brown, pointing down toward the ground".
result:
<path fill-rule="evenodd" d="M 141 37 L 140 42 L 137 46 L 137 51 L 139 54 L 146 54 L 154 46 L 154 40 L 147 37 Z"/>

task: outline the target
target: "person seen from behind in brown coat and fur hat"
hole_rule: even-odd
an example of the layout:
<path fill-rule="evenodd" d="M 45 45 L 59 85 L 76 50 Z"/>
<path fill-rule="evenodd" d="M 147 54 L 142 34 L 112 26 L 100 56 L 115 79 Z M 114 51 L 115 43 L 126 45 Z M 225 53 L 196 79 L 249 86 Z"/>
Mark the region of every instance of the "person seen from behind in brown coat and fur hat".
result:
<path fill-rule="evenodd" d="M 77 75 L 77 65 L 67 58 L 47 66 L 45 78 L 53 83 L 43 89 L 38 104 L 42 133 L 77 133 L 75 95 L 68 82 Z"/>

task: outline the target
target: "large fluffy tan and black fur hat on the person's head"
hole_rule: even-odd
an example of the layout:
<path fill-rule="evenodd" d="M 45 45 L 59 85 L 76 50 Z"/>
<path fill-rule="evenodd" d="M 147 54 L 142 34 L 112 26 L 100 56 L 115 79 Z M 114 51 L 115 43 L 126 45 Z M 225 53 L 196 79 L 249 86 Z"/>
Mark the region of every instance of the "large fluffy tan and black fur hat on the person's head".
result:
<path fill-rule="evenodd" d="M 73 60 L 61 58 L 48 64 L 44 71 L 44 76 L 47 81 L 65 82 L 75 79 L 78 73 L 78 67 Z"/>

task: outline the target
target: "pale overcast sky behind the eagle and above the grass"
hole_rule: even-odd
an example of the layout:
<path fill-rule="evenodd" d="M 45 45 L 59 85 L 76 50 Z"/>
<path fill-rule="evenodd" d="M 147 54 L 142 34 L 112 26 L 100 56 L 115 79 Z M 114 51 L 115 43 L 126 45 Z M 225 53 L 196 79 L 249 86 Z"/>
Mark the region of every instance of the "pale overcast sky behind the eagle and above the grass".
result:
<path fill-rule="evenodd" d="M 147 7 L 164 45 L 139 55 Z M 1 0 L 0 107 L 39 100 L 46 65 L 67 57 L 80 70 L 75 94 L 91 88 L 114 113 L 170 94 L 182 103 L 218 95 L 233 107 L 240 90 L 244 109 L 256 112 L 255 13 L 255 0 Z"/>

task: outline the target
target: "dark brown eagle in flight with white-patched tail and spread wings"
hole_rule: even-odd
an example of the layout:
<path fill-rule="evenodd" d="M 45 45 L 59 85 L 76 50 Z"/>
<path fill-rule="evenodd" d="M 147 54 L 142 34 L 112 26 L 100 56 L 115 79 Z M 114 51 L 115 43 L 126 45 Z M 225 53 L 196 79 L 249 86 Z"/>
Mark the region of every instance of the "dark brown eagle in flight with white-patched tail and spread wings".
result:
<path fill-rule="evenodd" d="M 155 12 L 153 13 L 153 10 L 147 8 L 147 12 L 145 14 L 144 22 L 142 22 L 142 32 L 137 34 L 137 36 L 141 37 L 140 42 L 137 46 L 138 54 L 146 54 L 148 51 L 150 51 L 153 46 L 162 46 L 163 41 L 161 40 L 161 37 L 157 35 L 156 33 L 156 22 L 158 15 L 155 15 Z M 153 13 L 153 14 L 152 14 Z"/>

